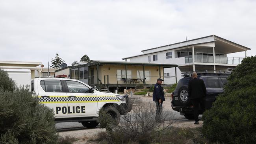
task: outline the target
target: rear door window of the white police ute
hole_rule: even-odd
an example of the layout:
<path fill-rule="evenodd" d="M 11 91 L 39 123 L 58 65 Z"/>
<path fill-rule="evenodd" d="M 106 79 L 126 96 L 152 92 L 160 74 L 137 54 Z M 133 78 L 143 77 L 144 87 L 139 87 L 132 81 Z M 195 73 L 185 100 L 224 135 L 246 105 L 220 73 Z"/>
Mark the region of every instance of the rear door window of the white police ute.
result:
<path fill-rule="evenodd" d="M 43 80 L 40 81 L 40 85 L 45 92 L 62 92 L 60 80 Z"/>

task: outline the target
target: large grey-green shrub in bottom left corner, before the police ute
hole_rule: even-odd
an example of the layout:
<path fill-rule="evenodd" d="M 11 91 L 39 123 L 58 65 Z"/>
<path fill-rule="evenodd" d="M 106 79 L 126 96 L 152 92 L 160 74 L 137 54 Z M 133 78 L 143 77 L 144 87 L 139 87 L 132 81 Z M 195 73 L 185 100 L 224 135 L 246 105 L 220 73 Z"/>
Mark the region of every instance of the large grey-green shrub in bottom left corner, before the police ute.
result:
<path fill-rule="evenodd" d="M 0 89 L 0 143 L 54 144 L 57 138 L 53 111 L 30 90 Z"/>

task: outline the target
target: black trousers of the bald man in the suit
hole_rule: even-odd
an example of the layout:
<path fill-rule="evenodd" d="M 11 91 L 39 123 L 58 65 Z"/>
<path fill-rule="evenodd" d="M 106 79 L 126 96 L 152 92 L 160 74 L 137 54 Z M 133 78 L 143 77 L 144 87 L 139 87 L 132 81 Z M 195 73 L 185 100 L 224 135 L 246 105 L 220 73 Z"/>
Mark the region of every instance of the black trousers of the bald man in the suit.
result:
<path fill-rule="evenodd" d="M 205 109 L 205 105 L 204 105 L 205 100 L 204 100 L 204 98 L 196 98 L 196 99 L 193 99 L 191 101 L 192 101 L 192 104 L 194 106 L 194 118 L 195 118 L 195 121 L 198 122 L 199 121 L 199 119 L 198 119 L 199 104 L 200 104 L 200 107 L 201 107 L 202 111 L 204 111 L 204 109 Z"/>

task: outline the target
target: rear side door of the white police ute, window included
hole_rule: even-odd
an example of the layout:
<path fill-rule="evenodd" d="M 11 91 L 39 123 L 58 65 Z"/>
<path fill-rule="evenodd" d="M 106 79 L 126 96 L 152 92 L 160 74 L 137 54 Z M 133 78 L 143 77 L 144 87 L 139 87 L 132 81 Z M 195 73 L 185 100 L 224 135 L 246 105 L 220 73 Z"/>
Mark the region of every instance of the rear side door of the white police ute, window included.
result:
<path fill-rule="evenodd" d="M 67 93 L 61 79 L 45 79 L 38 85 L 39 100 L 52 108 L 56 118 L 67 116 Z"/>

